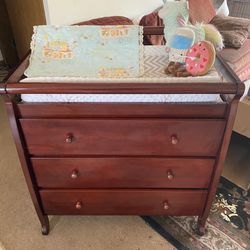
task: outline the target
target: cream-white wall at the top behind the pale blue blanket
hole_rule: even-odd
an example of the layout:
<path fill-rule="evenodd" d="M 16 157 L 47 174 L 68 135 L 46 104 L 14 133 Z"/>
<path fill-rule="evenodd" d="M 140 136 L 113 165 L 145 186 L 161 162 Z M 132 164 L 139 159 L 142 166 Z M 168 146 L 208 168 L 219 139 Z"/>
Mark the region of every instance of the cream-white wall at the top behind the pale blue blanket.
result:
<path fill-rule="evenodd" d="M 104 16 L 140 18 L 162 0 L 43 0 L 47 24 L 73 24 Z"/>

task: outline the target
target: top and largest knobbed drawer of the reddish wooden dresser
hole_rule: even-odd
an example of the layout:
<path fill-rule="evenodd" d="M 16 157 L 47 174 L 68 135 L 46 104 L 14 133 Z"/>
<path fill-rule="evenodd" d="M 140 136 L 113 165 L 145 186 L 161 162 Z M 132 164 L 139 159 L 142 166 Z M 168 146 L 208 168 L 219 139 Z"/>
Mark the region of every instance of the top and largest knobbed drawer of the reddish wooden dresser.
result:
<path fill-rule="evenodd" d="M 223 120 L 21 119 L 35 156 L 215 156 Z"/>

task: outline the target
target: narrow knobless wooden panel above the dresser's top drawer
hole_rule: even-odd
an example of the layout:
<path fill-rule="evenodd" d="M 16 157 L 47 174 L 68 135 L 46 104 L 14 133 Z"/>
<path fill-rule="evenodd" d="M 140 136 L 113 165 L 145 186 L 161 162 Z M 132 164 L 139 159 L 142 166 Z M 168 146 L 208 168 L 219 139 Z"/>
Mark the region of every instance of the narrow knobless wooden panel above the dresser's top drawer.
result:
<path fill-rule="evenodd" d="M 20 103 L 20 118 L 225 118 L 226 103 Z"/>

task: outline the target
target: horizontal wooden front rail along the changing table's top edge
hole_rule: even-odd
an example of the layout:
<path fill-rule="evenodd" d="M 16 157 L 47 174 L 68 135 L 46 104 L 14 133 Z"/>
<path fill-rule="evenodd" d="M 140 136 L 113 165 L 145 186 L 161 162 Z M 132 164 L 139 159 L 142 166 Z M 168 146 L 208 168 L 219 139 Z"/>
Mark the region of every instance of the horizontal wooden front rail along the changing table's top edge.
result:
<path fill-rule="evenodd" d="M 20 72 L 18 72 L 20 74 Z M 234 83 L 11 83 L 8 94 L 235 94 Z"/>

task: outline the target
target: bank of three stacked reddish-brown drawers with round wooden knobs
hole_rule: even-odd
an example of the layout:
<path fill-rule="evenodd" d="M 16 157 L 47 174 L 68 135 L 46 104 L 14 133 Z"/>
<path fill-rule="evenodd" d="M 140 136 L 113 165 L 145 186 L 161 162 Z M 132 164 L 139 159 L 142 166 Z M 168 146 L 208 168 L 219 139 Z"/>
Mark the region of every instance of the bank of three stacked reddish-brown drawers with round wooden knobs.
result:
<path fill-rule="evenodd" d="M 201 214 L 225 129 L 120 117 L 20 125 L 46 214 Z"/>

